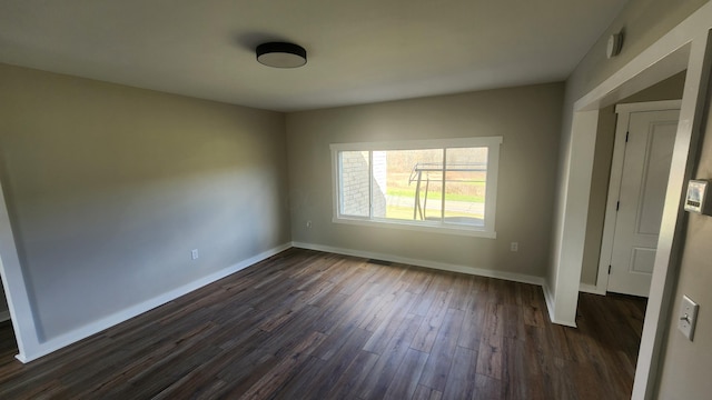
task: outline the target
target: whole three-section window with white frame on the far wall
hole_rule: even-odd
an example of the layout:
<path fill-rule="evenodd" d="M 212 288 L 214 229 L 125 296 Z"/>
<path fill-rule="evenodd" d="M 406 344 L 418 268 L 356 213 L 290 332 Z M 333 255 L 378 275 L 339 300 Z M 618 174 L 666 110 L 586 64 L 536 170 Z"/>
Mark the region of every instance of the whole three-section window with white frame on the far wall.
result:
<path fill-rule="evenodd" d="M 501 137 L 332 144 L 334 221 L 494 238 Z"/>

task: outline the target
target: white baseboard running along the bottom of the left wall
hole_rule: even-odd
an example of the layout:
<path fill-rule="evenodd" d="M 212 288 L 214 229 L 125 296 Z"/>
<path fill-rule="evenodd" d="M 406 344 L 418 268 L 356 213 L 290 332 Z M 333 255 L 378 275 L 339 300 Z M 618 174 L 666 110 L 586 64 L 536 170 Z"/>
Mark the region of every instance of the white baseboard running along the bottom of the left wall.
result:
<path fill-rule="evenodd" d="M 93 321 L 89 324 L 86 324 L 79 329 L 67 332 L 57 338 L 52 338 L 46 342 L 40 343 L 37 349 L 31 349 L 31 351 L 27 351 L 24 353 L 20 353 L 16 356 L 18 360 L 23 363 L 37 360 L 40 357 L 47 356 L 53 351 L 57 351 L 63 347 L 78 342 L 82 339 L 86 339 L 92 334 L 101 332 L 105 329 L 111 328 L 116 324 L 125 322 L 136 316 L 139 316 L 146 311 L 152 310 L 157 307 L 160 307 L 169 301 L 172 301 L 184 294 L 188 294 L 189 292 L 200 289 L 206 284 L 212 283 L 217 280 L 220 280 L 225 277 L 228 277 L 237 271 L 240 271 L 247 267 L 250 267 L 259 261 L 263 261 L 269 257 L 273 257 L 279 252 L 283 252 L 291 247 L 290 243 L 285 243 L 267 251 L 264 251 L 257 256 L 250 257 L 246 260 L 243 260 L 236 264 L 221 269 L 217 272 L 214 272 L 209 276 L 206 276 L 201 279 L 192 281 L 190 283 L 184 284 L 179 288 L 176 288 L 171 291 L 157 296 L 150 300 L 144 301 L 136 306 L 132 306 L 128 309 L 116 312 L 111 316 L 102 318 L 100 320 Z"/>

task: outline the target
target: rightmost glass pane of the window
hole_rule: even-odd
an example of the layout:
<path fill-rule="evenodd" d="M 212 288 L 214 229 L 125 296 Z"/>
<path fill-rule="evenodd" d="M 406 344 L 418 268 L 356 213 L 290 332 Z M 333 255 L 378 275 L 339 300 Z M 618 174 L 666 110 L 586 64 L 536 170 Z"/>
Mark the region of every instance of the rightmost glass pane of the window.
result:
<path fill-rule="evenodd" d="M 445 222 L 484 227 L 487 148 L 447 149 Z"/>

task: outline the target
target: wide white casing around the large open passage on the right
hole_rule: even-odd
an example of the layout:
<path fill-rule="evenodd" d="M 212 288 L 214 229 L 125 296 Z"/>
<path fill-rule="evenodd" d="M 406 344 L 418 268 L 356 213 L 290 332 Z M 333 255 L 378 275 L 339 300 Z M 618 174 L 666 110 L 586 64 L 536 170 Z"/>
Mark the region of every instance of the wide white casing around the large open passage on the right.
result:
<path fill-rule="evenodd" d="M 683 188 L 696 163 L 702 118 L 712 69 L 712 1 L 701 6 L 675 28 L 601 84 L 574 102 L 571 139 L 562 148 L 564 160 L 554 218 L 552 267 L 544 286 L 552 321 L 574 324 L 583 266 L 591 171 L 599 110 L 686 69 L 680 122 L 663 209 L 660 239 L 645 310 L 645 321 L 633 399 L 653 399 L 657 390 L 662 350 L 671 324 L 671 307 L 684 240 Z M 584 204 L 577 204 L 583 200 Z M 585 209 L 582 209 L 584 206 Z"/>

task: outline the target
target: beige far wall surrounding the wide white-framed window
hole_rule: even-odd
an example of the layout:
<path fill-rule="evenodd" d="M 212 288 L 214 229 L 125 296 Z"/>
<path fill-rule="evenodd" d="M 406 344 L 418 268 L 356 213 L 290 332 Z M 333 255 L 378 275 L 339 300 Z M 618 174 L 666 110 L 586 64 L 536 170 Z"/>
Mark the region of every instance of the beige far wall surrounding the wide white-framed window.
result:
<path fill-rule="evenodd" d="M 287 114 L 293 240 L 543 277 L 562 96 L 551 83 Z M 503 137 L 496 239 L 332 222 L 330 143 L 478 136 Z"/>

